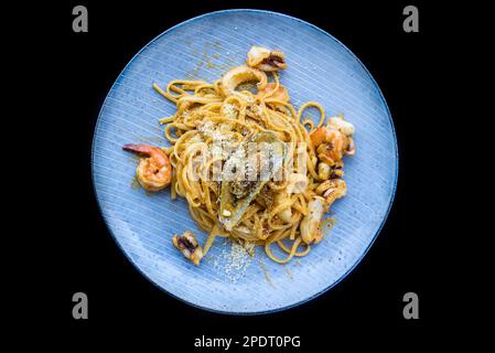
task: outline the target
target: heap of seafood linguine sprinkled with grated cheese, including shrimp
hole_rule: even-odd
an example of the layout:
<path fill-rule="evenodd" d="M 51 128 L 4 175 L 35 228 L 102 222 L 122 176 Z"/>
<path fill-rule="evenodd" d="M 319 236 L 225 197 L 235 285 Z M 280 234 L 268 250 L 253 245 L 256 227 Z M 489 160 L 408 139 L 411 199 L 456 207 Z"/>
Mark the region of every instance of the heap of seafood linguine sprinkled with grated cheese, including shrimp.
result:
<path fill-rule="evenodd" d="M 195 265 L 217 237 L 249 252 L 262 246 L 283 264 L 309 254 L 332 226 L 324 215 L 346 194 L 343 158 L 355 153 L 354 127 L 342 116 L 325 119 L 315 101 L 295 109 L 279 79 L 287 66 L 282 52 L 252 46 L 245 64 L 214 83 L 153 84 L 176 105 L 159 120 L 171 146 L 123 147 L 142 157 L 140 185 L 170 185 L 209 234 L 204 245 L 191 232 L 172 237 Z M 318 122 L 304 116 L 309 107 L 319 110 Z"/>

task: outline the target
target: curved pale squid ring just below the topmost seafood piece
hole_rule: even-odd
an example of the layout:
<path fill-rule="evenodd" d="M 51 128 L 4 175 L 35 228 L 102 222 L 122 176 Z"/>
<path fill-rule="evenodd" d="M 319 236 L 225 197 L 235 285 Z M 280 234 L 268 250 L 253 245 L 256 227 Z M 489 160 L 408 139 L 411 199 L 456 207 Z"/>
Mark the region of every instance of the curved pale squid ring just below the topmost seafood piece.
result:
<path fill-rule="evenodd" d="M 222 90 L 225 96 L 246 96 L 241 92 L 236 90 L 236 87 L 247 82 L 258 82 L 256 87 L 265 89 L 268 82 L 267 74 L 246 65 L 233 67 L 222 77 Z"/>

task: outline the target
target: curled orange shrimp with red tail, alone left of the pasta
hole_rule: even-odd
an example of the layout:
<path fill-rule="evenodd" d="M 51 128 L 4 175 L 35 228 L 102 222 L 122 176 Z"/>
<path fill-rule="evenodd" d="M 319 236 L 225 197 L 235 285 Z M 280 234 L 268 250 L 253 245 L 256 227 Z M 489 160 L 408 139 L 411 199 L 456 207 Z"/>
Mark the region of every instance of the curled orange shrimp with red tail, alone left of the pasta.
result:
<path fill-rule="evenodd" d="M 159 191 L 170 184 L 172 165 L 163 150 L 148 145 L 125 145 L 123 150 L 146 157 L 136 170 L 138 182 L 144 190 Z"/>

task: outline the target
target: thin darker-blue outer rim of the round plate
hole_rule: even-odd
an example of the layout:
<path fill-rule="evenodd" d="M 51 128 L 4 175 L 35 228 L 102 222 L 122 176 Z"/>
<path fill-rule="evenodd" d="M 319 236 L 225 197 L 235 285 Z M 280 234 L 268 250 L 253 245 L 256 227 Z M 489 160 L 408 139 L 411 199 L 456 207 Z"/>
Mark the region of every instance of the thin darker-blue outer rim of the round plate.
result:
<path fill-rule="evenodd" d="M 392 140 L 394 140 L 394 147 L 395 147 L 395 171 L 394 171 L 394 180 L 392 180 L 392 190 L 391 190 L 391 195 L 390 195 L 390 201 L 387 205 L 387 210 L 385 212 L 385 215 L 381 220 L 380 225 L 378 226 L 377 231 L 375 232 L 372 240 L 369 242 L 369 244 L 366 246 L 366 248 L 364 249 L 363 254 L 354 261 L 354 264 L 346 269 L 346 271 L 344 274 L 342 274 L 340 276 L 340 278 L 337 278 L 333 284 L 329 285 L 327 287 L 325 287 L 324 289 L 320 290 L 319 292 L 303 299 L 300 300 L 298 302 L 294 302 L 292 304 L 287 304 L 283 307 L 279 307 L 279 308 L 273 308 L 273 309 L 268 309 L 268 310 L 260 310 L 260 311 L 228 311 L 228 310 L 222 310 L 222 309 L 213 309 L 213 308 L 208 308 L 206 306 L 201 306 L 198 303 L 189 301 L 186 299 L 183 299 L 179 296 L 175 296 L 174 293 L 170 292 L 169 290 L 166 290 L 165 288 L 163 288 L 162 286 L 160 286 L 158 282 L 155 282 L 154 279 L 152 279 L 149 275 L 147 275 L 136 263 L 134 260 L 130 257 L 129 254 L 127 254 L 127 252 L 123 249 L 122 245 L 119 243 L 119 240 L 117 239 L 116 234 L 114 233 L 114 231 L 110 228 L 109 223 L 107 221 L 107 217 L 105 216 L 105 213 L 103 211 L 101 204 L 100 204 L 100 197 L 98 196 L 98 191 L 96 188 L 96 183 L 95 183 L 95 141 L 96 141 L 96 132 L 97 129 L 99 127 L 99 124 L 101 121 L 101 115 L 103 115 L 103 110 L 105 108 L 105 105 L 107 103 L 108 99 L 108 95 L 112 92 L 114 87 L 116 86 L 117 82 L 119 81 L 119 78 L 122 76 L 122 74 L 127 71 L 127 68 L 134 62 L 134 60 L 137 57 L 139 57 L 139 55 L 141 54 L 141 52 L 143 52 L 151 43 L 154 43 L 157 40 L 159 40 L 162 35 L 165 35 L 169 32 L 172 32 L 173 30 L 186 25 L 187 23 L 191 23 L 193 21 L 197 21 L 200 19 L 203 18 L 207 18 L 207 17 L 212 17 L 212 15 L 218 15 L 218 14 L 229 14 L 229 13 L 238 13 L 238 12 L 255 12 L 255 13 L 261 13 L 261 14 L 269 14 L 272 17 L 282 17 L 282 18 L 287 18 L 287 19 L 291 19 L 291 20 L 295 20 L 300 23 L 303 23 L 305 25 L 311 26 L 312 29 L 316 30 L 318 32 L 320 32 L 321 34 L 330 38 L 331 40 L 335 41 L 340 46 L 342 46 L 348 54 L 351 54 L 352 57 L 354 57 L 354 60 L 356 60 L 356 62 L 364 68 L 365 73 L 367 74 L 367 76 L 372 79 L 373 85 L 377 88 L 379 97 L 381 99 L 381 101 L 384 103 L 385 106 L 385 110 L 387 113 L 387 117 L 388 120 L 390 121 L 390 127 L 391 127 L 391 136 L 392 136 Z M 284 14 L 281 12 L 277 12 L 277 11 L 270 11 L 270 10 L 261 10 L 261 9 L 224 9 L 224 10 L 217 10 L 217 11 L 212 11 L 212 12 L 206 12 L 196 17 L 193 17 L 191 19 L 187 19 L 185 21 L 179 22 L 174 25 L 172 25 L 171 28 L 164 30 L 163 32 L 161 32 L 160 34 L 158 34 L 157 36 L 154 36 L 152 40 L 150 40 L 147 44 L 144 44 L 132 57 L 131 60 L 126 64 L 126 66 L 120 71 L 119 75 L 117 76 L 117 78 L 115 79 L 115 82 L 112 83 L 111 87 L 108 89 L 105 99 L 101 104 L 101 107 L 99 109 L 98 113 L 98 117 L 96 118 L 96 121 L 94 122 L 94 127 L 93 127 L 93 139 L 92 139 L 92 149 L 90 149 L 90 174 L 92 174 L 92 184 L 93 184 L 93 193 L 94 196 L 96 199 L 96 203 L 98 205 L 98 210 L 100 213 L 100 216 L 105 223 L 106 228 L 108 229 L 108 233 L 110 233 L 114 242 L 117 244 L 118 248 L 120 249 L 120 252 L 123 254 L 123 256 L 126 257 L 126 259 L 132 265 L 133 268 L 136 268 L 138 270 L 139 274 L 141 274 L 141 276 L 143 276 L 149 282 L 151 282 L 154 287 L 159 288 L 161 291 L 165 292 L 166 295 L 171 296 L 174 299 L 180 300 L 183 303 L 186 303 L 189 306 L 192 306 L 194 308 L 197 309 L 202 309 L 208 312 L 213 312 L 213 313 L 219 313 L 219 314 L 227 314 L 227 315 L 263 315 L 263 314 L 270 314 L 270 313 L 276 313 L 276 312 L 280 312 L 280 311 L 286 311 L 292 308 L 297 308 L 300 306 L 303 306 L 310 301 L 312 301 L 313 299 L 316 299 L 318 297 L 324 295 L 325 292 L 327 292 L 329 290 L 331 290 L 332 288 L 334 288 L 337 284 L 340 284 L 344 278 L 346 278 L 363 260 L 363 258 L 366 256 L 366 254 L 369 252 L 369 249 L 372 248 L 373 244 L 375 243 L 375 240 L 377 239 L 378 235 L 380 234 L 383 227 L 385 226 L 387 218 L 390 214 L 390 210 L 394 205 L 395 202 L 395 197 L 396 197 L 396 193 L 397 193 L 397 183 L 398 183 L 398 178 L 399 178 L 399 147 L 398 147 L 398 142 L 397 142 L 397 133 L 396 133 L 396 129 L 395 129 L 395 125 L 394 125 L 394 119 L 390 113 L 390 109 L 388 107 L 387 100 L 385 99 L 384 94 L 381 93 L 381 89 L 378 85 L 378 83 L 375 81 L 375 77 L 373 77 L 372 73 L 368 71 L 368 68 L 366 67 L 366 65 L 364 65 L 364 63 L 359 60 L 359 57 L 357 57 L 344 43 L 342 43 L 340 40 L 337 40 L 335 36 L 333 36 L 332 34 L 330 34 L 329 32 L 326 32 L 325 30 L 319 28 L 315 24 L 312 24 L 308 21 L 301 20 L 299 18 L 289 15 L 289 14 Z"/>

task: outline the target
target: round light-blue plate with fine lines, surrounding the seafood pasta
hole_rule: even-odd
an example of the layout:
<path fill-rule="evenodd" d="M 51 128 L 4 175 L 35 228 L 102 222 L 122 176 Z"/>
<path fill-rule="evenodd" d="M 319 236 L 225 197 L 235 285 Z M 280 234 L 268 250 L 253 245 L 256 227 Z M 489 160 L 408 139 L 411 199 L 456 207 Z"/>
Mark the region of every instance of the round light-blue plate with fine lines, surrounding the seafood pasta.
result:
<path fill-rule="evenodd" d="M 343 113 L 355 126 L 357 154 L 347 158 L 347 196 L 332 207 L 336 224 L 309 256 L 288 265 L 257 249 L 241 266 L 228 263 L 229 244 L 218 240 L 196 267 L 172 245 L 191 229 L 206 234 L 170 192 L 132 188 L 137 159 L 122 145 L 165 146 L 158 119 L 175 107 L 151 87 L 171 79 L 213 82 L 240 65 L 252 44 L 286 53 L 281 75 L 292 104 L 320 101 L 329 115 Z M 207 13 L 163 32 L 126 66 L 108 93 L 93 142 L 93 178 L 105 222 L 129 260 L 170 295 L 203 309 L 260 313 L 315 298 L 359 263 L 390 208 L 398 170 L 397 143 L 387 104 L 359 60 L 329 33 L 280 13 L 229 10 Z"/>

